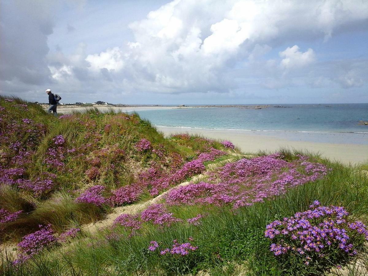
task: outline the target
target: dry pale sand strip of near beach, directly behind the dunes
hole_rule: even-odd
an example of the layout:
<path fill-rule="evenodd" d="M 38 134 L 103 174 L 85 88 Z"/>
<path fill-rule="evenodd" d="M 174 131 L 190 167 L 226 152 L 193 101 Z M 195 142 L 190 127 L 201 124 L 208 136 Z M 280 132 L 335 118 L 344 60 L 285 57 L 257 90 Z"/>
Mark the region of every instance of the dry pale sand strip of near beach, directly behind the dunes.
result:
<path fill-rule="evenodd" d="M 357 165 L 359 163 L 368 162 L 368 145 L 293 141 L 273 135 L 244 133 L 245 131 L 235 130 L 184 129 L 163 126 L 156 126 L 156 128 L 163 132 L 165 136 L 184 132 L 188 134 L 199 134 L 212 139 L 229 140 L 245 153 L 255 153 L 258 151 L 275 152 L 280 148 L 286 148 L 320 153 L 323 158 L 339 161 L 344 164 L 350 163 Z"/>

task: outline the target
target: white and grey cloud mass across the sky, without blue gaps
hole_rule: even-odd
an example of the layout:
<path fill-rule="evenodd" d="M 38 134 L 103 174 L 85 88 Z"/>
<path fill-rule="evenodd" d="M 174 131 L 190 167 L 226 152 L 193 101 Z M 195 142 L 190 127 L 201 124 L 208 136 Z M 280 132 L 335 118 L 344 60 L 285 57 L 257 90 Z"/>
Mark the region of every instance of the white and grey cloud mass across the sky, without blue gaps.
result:
<path fill-rule="evenodd" d="M 107 95 L 114 89 L 127 95 L 212 95 L 241 89 L 244 83 L 269 89 L 367 83 L 367 67 L 354 66 L 355 60 L 344 61 L 350 63 L 345 67 L 336 65 L 343 61 L 319 61 L 320 53 L 313 50 L 318 48 L 310 45 L 364 29 L 367 1 L 174 0 L 132 22 L 131 41 L 91 53 L 87 41 L 75 40 L 79 44 L 72 54 L 47 46 L 57 24 L 52 14 L 60 10 L 58 1 L 1 5 L 0 35 L 6 42 L 0 46 L 3 92 L 20 93 L 25 87 L 35 91 L 52 84 L 66 93 Z M 12 20 L 14 15 L 20 20 Z M 68 23 L 67 31 L 73 32 L 75 24 Z"/>

